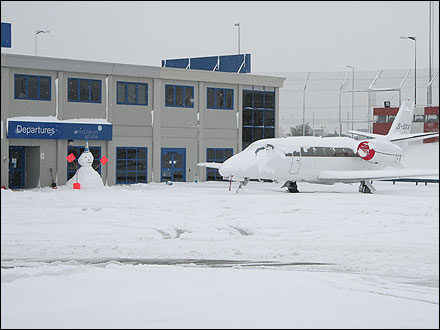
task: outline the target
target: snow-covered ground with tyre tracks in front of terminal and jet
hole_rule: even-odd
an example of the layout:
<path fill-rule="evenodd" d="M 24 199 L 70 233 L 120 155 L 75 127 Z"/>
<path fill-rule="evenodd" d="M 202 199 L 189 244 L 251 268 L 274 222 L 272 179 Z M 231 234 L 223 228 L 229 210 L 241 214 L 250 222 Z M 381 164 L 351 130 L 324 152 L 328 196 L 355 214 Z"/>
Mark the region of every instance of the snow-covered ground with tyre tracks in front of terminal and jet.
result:
<path fill-rule="evenodd" d="M 439 327 L 438 184 L 281 184 L 2 190 L 2 328 Z"/>

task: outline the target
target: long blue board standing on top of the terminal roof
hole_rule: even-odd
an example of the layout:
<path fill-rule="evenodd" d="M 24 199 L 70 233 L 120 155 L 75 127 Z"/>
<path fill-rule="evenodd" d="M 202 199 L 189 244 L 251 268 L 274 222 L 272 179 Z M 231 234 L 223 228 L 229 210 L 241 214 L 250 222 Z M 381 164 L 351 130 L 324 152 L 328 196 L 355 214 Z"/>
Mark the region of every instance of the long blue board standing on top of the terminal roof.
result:
<path fill-rule="evenodd" d="M 250 73 L 251 54 L 176 58 L 171 60 L 162 60 L 162 67 L 220 71 L 220 72 Z"/>

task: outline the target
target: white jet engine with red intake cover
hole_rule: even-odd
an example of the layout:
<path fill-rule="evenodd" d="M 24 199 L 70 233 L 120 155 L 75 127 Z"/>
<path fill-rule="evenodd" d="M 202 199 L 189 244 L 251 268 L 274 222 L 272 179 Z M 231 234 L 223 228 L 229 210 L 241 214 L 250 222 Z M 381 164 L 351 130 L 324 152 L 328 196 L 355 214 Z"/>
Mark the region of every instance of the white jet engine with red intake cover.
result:
<path fill-rule="evenodd" d="M 374 164 L 391 164 L 400 161 L 404 151 L 399 146 L 385 141 L 362 141 L 356 154 L 363 160 Z"/>

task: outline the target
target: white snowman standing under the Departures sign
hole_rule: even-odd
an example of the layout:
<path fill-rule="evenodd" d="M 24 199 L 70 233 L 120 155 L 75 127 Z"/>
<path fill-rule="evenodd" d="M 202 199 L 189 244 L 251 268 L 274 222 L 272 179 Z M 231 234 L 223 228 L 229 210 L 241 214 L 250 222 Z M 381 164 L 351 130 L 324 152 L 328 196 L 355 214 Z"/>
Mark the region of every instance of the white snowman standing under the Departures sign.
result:
<path fill-rule="evenodd" d="M 81 189 L 104 187 L 101 176 L 92 167 L 93 154 L 89 150 L 88 141 L 86 141 L 84 152 L 78 158 L 78 164 L 80 168 L 78 168 L 76 174 L 67 181 L 69 188 L 73 188 L 74 183 L 79 183 Z"/>

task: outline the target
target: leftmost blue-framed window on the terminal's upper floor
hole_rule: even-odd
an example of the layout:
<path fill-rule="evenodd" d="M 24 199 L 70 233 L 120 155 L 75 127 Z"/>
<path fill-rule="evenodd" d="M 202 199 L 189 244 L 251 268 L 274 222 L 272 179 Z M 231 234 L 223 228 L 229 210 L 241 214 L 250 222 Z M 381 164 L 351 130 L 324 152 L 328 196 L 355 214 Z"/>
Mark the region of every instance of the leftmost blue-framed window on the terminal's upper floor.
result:
<path fill-rule="evenodd" d="M 14 98 L 19 100 L 51 100 L 51 77 L 14 75 Z"/>

